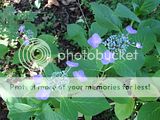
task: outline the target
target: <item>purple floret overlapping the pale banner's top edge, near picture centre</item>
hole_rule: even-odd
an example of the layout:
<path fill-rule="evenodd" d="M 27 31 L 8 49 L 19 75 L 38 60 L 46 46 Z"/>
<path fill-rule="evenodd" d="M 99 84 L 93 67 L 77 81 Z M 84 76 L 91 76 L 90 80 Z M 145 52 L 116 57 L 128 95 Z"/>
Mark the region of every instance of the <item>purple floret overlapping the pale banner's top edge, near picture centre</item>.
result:
<path fill-rule="evenodd" d="M 83 70 L 74 71 L 73 76 L 77 78 L 80 82 L 85 82 L 87 80 L 87 77 Z"/>

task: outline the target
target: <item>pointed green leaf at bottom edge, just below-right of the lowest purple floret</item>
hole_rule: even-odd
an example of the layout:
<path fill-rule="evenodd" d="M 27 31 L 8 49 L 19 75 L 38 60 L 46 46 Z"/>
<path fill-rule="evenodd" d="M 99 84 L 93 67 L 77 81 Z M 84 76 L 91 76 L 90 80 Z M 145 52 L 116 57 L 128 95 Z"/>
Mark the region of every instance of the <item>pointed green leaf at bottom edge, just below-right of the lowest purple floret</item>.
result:
<path fill-rule="evenodd" d="M 56 113 L 48 104 L 42 105 L 42 113 L 38 116 L 41 120 L 65 120 L 59 113 Z"/>

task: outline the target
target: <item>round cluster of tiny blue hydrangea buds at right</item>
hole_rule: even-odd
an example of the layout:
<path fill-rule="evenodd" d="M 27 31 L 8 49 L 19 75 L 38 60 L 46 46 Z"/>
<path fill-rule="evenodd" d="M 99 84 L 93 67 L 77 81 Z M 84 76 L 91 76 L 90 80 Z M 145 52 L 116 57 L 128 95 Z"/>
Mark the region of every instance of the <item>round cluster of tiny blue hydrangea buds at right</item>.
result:
<path fill-rule="evenodd" d="M 111 52 L 121 51 L 125 53 L 130 45 L 130 41 L 128 39 L 128 36 L 124 34 L 119 34 L 119 35 L 111 35 L 103 42 L 103 44 L 107 46 L 108 50 Z"/>

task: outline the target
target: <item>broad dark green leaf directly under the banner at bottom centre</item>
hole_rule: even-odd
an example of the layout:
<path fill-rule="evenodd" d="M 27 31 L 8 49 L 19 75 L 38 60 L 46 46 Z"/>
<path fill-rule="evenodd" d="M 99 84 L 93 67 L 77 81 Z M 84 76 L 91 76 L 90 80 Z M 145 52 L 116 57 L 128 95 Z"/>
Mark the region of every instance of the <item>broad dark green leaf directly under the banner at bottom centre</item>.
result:
<path fill-rule="evenodd" d="M 77 111 L 87 116 L 93 116 L 110 108 L 105 98 L 73 98 Z"/>

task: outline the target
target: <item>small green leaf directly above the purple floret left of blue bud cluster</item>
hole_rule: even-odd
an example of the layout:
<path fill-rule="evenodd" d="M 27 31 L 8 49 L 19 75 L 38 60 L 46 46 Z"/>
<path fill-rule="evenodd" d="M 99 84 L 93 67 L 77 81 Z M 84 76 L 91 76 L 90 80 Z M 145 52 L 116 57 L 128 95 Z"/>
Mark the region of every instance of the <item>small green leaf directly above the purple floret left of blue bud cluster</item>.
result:
<path fill-rule="evenodd" d="M 94 33 L 98 33 L 101 37 L 108 32 L 108 29 L 104 26 L 99 25 L 97 22 L 92 23 L 91 29 L 89 31 L 90 36 Z"/>

